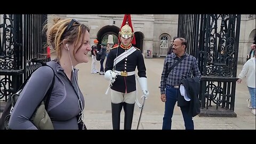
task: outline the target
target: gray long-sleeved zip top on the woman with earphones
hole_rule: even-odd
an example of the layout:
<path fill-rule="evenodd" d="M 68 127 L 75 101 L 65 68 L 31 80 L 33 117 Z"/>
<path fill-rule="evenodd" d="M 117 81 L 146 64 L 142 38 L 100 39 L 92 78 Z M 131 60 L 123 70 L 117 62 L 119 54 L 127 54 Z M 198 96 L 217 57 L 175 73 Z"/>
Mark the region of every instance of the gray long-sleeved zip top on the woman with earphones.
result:
<path fill-rule="evenodd" d="M 77 93 L 77 69 L 74 69 L 75 78 L 71 73 L 71 82 L 64 73 L 63 68 L 55 61 L 47 62 L 55 71 L 55 82 L 47 108 L 53 127 L 58 129 L 78 129 L 77 115 L 81 113 L 78 104 Z M 37 129 L 29 121 L 35 109 L 41 103 L 50 88 L 53 79 L 53 71 L 50 67 L 39 67 L 30 77 L 20 93 L 20 97 L 14 106 L 10 118 L 10 129 Z M 75 82 L 76 79 L 76 82 Z M 72 85 L 71 85 L 71 84 Z M 76 92 L 75 92 L 76 91 Z M 77 93 L 77 94 L 76 94 Z M 84 97 L 79 90 L 79 96 L 83 103 Z"/>

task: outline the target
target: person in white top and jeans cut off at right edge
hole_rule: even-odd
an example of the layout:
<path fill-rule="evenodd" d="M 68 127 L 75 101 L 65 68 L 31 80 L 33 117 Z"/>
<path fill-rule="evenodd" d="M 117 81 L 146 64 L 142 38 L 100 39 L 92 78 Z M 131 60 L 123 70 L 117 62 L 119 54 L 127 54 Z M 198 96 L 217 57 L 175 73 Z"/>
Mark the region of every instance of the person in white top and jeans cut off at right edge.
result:
<path fill-rule="evenodd" d="M 248 107 L 252 109 L 252 114 L 255 115 L 255 53 L 254 57 L 246 61 L 243 66 L 241 73 L 238 76 L 237 83 L 241 83 L 242 79 L 247 75 L 247 86 L 251 95 L 250 99 L 247 100 Z M 251 105 L 251 106 L 250 106 Z"/>

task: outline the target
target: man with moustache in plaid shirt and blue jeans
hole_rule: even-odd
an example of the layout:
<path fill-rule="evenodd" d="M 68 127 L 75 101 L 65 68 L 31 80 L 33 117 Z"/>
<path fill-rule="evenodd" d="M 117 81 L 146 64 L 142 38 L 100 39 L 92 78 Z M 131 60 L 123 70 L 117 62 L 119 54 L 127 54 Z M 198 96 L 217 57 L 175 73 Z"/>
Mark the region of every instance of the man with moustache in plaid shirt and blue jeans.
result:
<path fill-rule="evenodd" d="M 187 41 L 184 38 L 176 38 L 173 42 L 173 53 L 166 56 L 164 60 L 164 68 L 161 76 L 161 100 L 165 102 L 165 111 L 163 117 L 163 130 L 170 130 L 172 125 L 172 115 L 178 95 L 180 95 L 180 83 L 182 79 L 194 77 L 201 79 L 196 58 L 188 55 L 185 51 Z M 177 66 L 171 71 L 169 69 L 179 59 L 187 55 Z M 194 130 L 193 117 L 188 114 L 189 105 L 180 107 L 185 122 L 186 130 Z"/>

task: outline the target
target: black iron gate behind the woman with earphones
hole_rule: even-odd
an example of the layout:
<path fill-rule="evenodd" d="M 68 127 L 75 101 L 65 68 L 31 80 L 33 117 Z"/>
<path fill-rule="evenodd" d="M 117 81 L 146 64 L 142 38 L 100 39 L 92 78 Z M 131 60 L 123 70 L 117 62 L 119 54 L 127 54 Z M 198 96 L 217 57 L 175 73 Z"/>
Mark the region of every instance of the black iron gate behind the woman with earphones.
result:
<path fill-rule="evenodd" d="M 1 101 L 7 101 L 10 94 L 15 93 L 25 78 L 39 66 L 31 59 L 46 61 L 45 23 L 47 14 L 1 14 Z"/>

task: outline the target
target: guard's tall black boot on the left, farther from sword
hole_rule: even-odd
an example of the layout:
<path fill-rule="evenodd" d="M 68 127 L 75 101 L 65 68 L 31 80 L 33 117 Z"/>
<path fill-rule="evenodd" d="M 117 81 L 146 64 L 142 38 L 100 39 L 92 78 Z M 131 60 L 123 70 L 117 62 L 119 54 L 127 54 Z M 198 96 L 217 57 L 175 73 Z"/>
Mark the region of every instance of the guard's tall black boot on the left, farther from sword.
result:
<path fill-rule="evenodd" d="M 123 102 L 111 103 L 113 130 L 120 130 L 120 113 L 123 108 Z"/>

